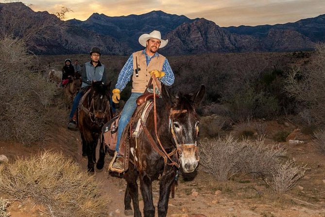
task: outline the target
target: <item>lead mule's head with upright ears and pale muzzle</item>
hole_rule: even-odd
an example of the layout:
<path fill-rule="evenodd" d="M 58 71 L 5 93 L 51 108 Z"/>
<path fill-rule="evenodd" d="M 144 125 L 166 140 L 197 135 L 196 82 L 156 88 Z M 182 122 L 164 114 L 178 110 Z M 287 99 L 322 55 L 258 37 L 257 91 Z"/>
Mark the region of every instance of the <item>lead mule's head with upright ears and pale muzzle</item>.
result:
<path fill-rule="evenodd" d="M 193 172 L 200 160 L 197 148 L 199 118 L 195 109 L 204 94 L 204 85 L 198 92 L 179 94 L 176 97 L 173 97 L 165 87 L 162 91 L 163 98 L 171 104 L 169 130 L 173 143 L 177 147 L 183 171 L 186 173 Z"/>

